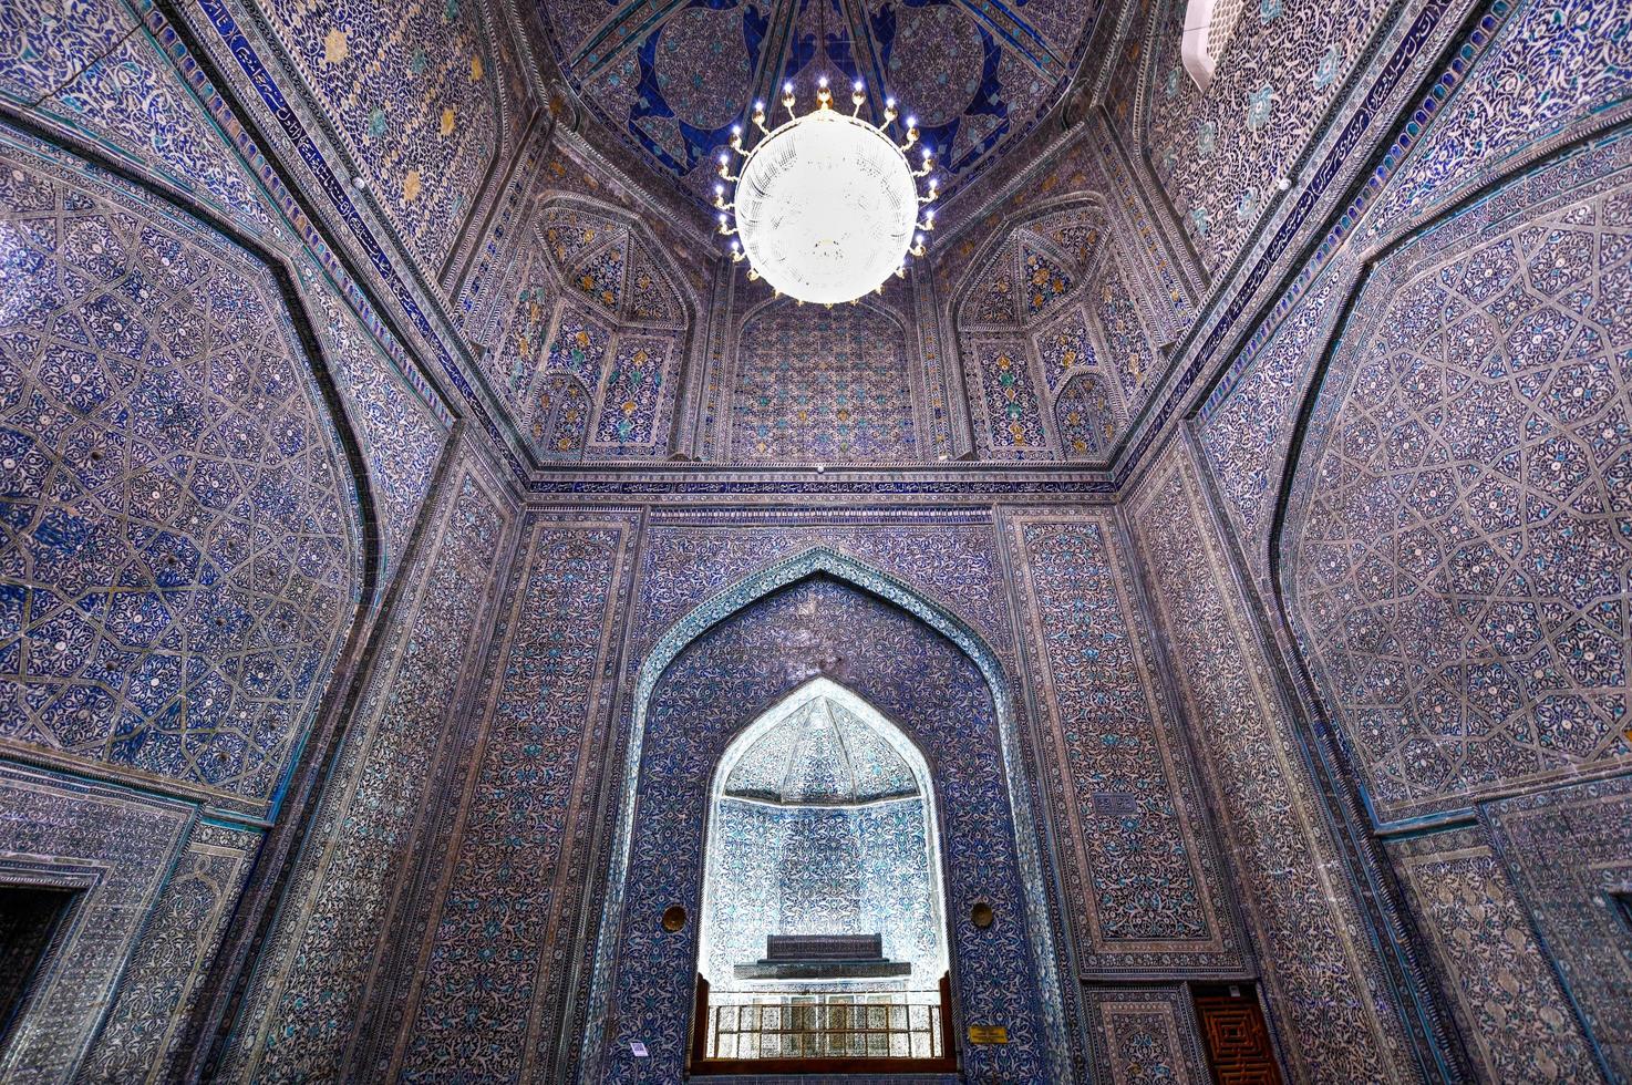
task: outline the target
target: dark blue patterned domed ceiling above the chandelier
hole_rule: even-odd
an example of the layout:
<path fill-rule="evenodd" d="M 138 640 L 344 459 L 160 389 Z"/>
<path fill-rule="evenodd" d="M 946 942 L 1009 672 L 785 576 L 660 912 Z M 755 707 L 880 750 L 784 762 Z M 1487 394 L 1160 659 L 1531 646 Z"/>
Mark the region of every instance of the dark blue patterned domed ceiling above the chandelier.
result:
<path fill-rule="evenodd" d="M 916 114 L 943 193 L 1036 126 L 1071 82 L 1095 0 L 542 0 L 578 98 L 651 165 L 710 197 L 715 157 L 785 80 L 863 78 Z M 780 108 L 778 108 L 780 113 Z M 782 114 L 785 119 L 787 114 Z M 875 113 L 875 121 L 881 117 Z"/>

